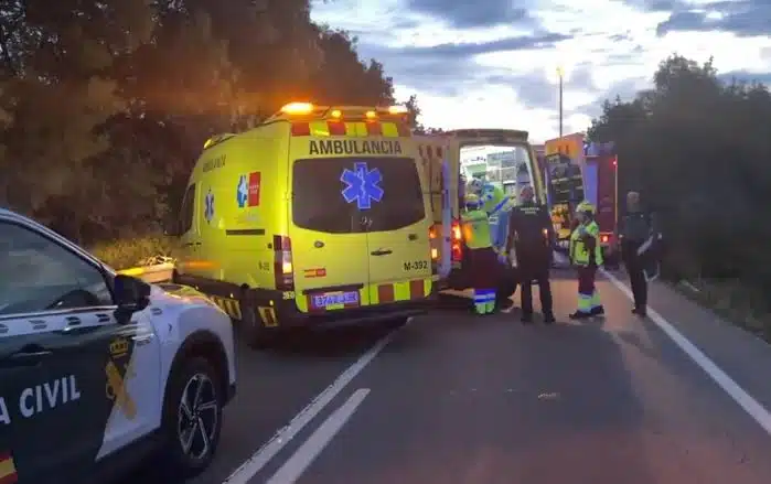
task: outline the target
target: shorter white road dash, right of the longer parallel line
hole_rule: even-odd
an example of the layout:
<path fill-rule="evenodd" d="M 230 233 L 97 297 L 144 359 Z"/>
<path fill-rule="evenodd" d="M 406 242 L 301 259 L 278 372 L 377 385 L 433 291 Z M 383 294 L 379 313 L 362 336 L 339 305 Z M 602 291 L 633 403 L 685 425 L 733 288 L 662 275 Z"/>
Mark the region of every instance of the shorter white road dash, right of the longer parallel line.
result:
<path fill-rule="evenodd" d="M 334 435 L 340 432 L 343 426 L 353 417 L 364 398 L 370 394 L 368 388 L 360 388 L 347 399 L 338 410 L 334 411 L 324 422 L 311 434 L 308 440 L 300 445 L 300 449 L 281 465 L 266 484 L 295 484 L 321 454 Z"/>

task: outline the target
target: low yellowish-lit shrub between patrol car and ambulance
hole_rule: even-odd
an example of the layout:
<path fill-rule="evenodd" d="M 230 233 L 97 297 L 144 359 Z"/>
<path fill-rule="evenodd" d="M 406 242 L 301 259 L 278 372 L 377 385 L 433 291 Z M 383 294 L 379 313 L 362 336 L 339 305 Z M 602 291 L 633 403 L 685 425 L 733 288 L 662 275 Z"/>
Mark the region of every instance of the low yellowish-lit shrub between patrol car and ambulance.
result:
<path fill-rule="evenodd" d="M 159 263 L 159 256 L 173 258 L 176 255 L 176 241 L 169 237 L 138 237 L 99 244 L 90 249 L 116 270 L 137 266 Z"/>

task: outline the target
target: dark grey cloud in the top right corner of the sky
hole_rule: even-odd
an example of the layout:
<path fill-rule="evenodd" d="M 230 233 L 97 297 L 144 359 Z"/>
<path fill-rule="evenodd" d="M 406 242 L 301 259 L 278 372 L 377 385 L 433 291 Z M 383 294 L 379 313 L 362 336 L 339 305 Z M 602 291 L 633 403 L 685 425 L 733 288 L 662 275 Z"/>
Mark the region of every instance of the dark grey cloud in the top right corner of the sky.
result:
<path fill-rule="evenodd" d="M 679 3 L 670 18 L 658 24 L 656 34 L 724 31 L 739 36 L 765 36 L 769 34 L 769 0 L 724 0 L 692 3 L 690 8 Z"/>

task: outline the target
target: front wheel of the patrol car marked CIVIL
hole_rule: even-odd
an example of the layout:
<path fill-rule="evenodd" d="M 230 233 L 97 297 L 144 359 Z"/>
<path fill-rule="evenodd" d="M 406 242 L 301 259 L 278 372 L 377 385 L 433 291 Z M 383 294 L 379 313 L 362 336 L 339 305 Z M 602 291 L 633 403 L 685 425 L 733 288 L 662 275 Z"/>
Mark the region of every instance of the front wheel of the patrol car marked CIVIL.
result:
<path fill-rule="evenodd" d="M 171 376 L 164 401 L 163 463 L 173 475 L 201 473 L 214 458 L 222 430 L 222 385 L 203 357 L 183 362 Z"/>

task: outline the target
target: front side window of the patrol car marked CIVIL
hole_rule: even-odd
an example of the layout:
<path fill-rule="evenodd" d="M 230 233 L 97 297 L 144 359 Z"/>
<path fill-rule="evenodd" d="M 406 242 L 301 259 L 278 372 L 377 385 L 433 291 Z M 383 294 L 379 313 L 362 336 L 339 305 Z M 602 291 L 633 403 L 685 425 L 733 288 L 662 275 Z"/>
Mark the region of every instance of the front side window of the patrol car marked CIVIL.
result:
<path fill-rule="evenodd" d="M 113 305 L 99 269 L 55 240 L 0 222 L 0 315 Z"/>

